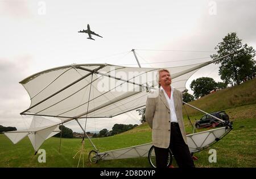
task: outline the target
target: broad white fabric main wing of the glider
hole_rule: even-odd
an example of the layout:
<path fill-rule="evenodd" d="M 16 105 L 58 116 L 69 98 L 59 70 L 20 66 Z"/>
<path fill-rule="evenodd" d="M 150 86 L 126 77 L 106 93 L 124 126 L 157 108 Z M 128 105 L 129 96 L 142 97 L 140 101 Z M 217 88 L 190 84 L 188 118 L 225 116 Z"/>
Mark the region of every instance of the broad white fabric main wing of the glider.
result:
<path fill-rule="evenodd" d="M 172 86 L 183 91 L 201 64 L 167 68 Z M 189 69 L 193 70 L 189 71 Z M 109 64 L 68 65 L 34 74 L 20 84 L 31 98 L 21 114 L 70 118 L 111 118 L 146 104 L 159 68 L 131 68 Z M 89 106 L 88 106 L 89 105 Z M 87 113 L 88 109 L 88 113 Z"/>

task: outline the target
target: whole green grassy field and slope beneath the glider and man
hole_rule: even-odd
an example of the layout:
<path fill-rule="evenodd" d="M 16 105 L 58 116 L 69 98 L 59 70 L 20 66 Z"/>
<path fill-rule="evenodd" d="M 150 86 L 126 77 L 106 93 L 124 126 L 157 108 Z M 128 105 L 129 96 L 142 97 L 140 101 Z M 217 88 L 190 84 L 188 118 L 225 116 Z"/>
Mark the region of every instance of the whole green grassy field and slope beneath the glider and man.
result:
<path fill-rule="evenodd" d="M 256 166 L 256 97 L 255 82 L 250 81 L 234 88 L 218 91 L 215 94 L 192 102 L 192 105 L 208 112 L 214 110 L 225 110 L 233 121 L 234 129 L 218 141 L 212 147 L 205 149 L 195 156 L 197 167 L 255 167 Z M 254 87 L 252 87 L 254 86 Z M 241 90 L 241 88 L 243 90 Z M 250 89 L 251 91 L 248 91 Z M 248 92 L 247 92 L 248 91 Z M 246 95 L 245 95 L 246 94 Z M 247 94 L 249 96 L 247 96 Z M 234 98 L 237 95 L 237 98 Z M 245 96 L 244 96 L 245 95 Z M 205 103 L 208 105 L 205 105 Z M 236 105 L 234 105 L 234 103 Z M 233 105 L 232 105 L 233 104 Z M 212 107 L 211 107 L 212 106 Z M 188 107 L 186 107 L 188 110 Z M 188 110 L 189 111 L 189 110 Z M 189 114 L 192 122 L 199 119 L 202 114 Z M 184 115 L 185 116 L 185 115 Z M 192 132 L 187 117 L 184 117 L 187 132 Z M 133 130 L 108 138 L 92 139 L 100 152 L 109 151 L 151 142 L 151 130 L 147 123 L 144 123 Z M 77 167 L 79 155 L 76 159 L 73 156 L 81 147 L 81 139 L 62 139 L 61 151 L 59 152 L 60 139 L 50 138 L 40 147 L 46 150 L 46 163 L 39 163 L 38 156 L 28 138 L 23 139 L 14 145 L 5 135 L 0 135 L 0 167 Z M 209 149 L 216 149 L 217 163 L 209 163 Z M 136 159 L 119 159 L 100 161 L 97 164 L 90 164 L 88 153 L 92 149 L 88 139 L 85 143 L 84 166 L 85 167 L 150 167 L 146 157 Z M 82 162 L 82 161 L 81 161 Z M 80 162 L 80 167 L 82 163 Z M 176 166 L 174 161 L 174 166 Z"/>

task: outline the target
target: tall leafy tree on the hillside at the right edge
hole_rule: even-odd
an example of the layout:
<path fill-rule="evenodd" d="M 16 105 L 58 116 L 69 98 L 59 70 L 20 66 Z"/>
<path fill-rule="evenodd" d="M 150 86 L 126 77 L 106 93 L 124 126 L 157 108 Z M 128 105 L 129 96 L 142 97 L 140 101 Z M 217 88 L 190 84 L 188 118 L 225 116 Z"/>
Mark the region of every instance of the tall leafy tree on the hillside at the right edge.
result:
<path fill-rule="evenodd" d="M 217 54 L 210 56 L 212 59 L 217 59 L 228 53 L 240 50 L 234 55 L 225 57 L 216 62 L 216 64 L 221 64 L 218 74 L 220 74 L 221 80 L 224 80 L 225 84 L 233 84 L 233 82 L 236 82 L 240 85 L 240 82 L 244 78 L 255 73 L 256 66 L 253 59 L 255 50 L 247 44 L 242 45 L 241 41 L 242 40 L 237 37 L 236 32 L 232 32 L 226 35 L 223 41 L 218 43 L 214 48 L 217 49 Z"/>

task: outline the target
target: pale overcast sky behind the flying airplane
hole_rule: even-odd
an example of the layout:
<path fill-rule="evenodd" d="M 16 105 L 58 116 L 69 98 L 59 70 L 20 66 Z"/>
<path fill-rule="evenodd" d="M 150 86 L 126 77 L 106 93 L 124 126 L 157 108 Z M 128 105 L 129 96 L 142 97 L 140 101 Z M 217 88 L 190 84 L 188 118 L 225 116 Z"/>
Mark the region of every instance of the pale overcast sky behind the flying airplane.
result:
<path fill-rule="evenodd" d="M 143 67 L 200 63 L 210 60 L 214 47 L 229 32 L 237 32 L 243 44 L 255 49 L 255 7 L 254 0 L 0 0 L 0 124 L 18 129 L 29 125 L 31 118 L 19 115 L 30 106 L 19 81 L 42 70 L 72 63 L 137 66 L 131 49 L 138 49 Z M 104 38 L 89 40 L 77 32 L 86 30 L 87 24 Z M 197 71 L 186 87 L 198 77 L 221 81 L 218 66 L 209 65 Z M 135 112 L 118 120 L 92 119 L 88 130 L 111 130 L 115 123 L 139 124 L 139 118 Z M 81 132 L 76 123 L 67 126 Z"/>

